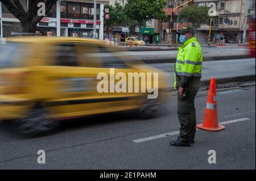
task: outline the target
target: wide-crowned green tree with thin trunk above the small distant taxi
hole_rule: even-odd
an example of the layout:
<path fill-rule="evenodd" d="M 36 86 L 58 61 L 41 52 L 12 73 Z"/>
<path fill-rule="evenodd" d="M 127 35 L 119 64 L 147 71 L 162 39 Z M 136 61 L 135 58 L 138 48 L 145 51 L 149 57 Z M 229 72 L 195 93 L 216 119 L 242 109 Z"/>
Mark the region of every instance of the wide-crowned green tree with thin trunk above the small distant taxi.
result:
<path fill-rule="evenodd" d="M 163 11 L 166 4 L 166 0 L 127 0 L 125 13 L 128 18 L 138 22 L 139 37 L 142 25 L 148 20 L 166 18 Z"/>

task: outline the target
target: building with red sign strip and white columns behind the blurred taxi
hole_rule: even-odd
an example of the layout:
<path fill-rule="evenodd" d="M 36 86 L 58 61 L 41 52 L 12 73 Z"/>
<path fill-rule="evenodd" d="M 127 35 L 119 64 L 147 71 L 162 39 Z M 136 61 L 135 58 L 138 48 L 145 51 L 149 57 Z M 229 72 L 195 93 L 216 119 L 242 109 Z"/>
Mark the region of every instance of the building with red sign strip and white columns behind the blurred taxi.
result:
<path fill-rule="evenodd" d="M 20 0 L 27 10 L 29 0 Z M 104 5 L 109 0 L 97 0 L 96 37 L 104 36 Z M 37 24 L 36 32 L 43 36 L 93 36 L 93 0 L 57 1 L 46 16 Z M 11 32 L 22 32 L 22 26 L 10 11 L 0 3 L 1 37 L 10 36 Z"/>

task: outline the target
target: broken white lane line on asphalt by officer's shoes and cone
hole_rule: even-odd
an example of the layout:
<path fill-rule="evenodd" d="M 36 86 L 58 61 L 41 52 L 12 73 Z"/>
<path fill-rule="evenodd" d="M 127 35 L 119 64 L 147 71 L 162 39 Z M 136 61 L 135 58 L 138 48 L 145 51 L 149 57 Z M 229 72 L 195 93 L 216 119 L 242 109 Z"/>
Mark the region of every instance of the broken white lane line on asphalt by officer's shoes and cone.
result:
<path fill-rule="evenodd" d="M 246 120 L 250 120 L 250 119 L 249 118 L 234 119 L 234 120 L 224 121 L 219 124 L 224 125 L 224 124 L 236 123 L 236 122 L 246 121 Z M 196 130 L 199 130 L 199 129 L 196 128 Z M 175 131 L 175 132 L 171 132 L 171 133 L 158 134 L 156 136 L 150 136 L 150 137 L 146 137 L 146 138 L 140 138 L 138 140 L 133 140 L 133 142 L 138 144 L 139 142 L 155 140 L 155 139 L 163 138 L 163 137 L 167 137 L 167 136 L 174 136 L 179 133 L 180 133 L 179 131 Z"/>

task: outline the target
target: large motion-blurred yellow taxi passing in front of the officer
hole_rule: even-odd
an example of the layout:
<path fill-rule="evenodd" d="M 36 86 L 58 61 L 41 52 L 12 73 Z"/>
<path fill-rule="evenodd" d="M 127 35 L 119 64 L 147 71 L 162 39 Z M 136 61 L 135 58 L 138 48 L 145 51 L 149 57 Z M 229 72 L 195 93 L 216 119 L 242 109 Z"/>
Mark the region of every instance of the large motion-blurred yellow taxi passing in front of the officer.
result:
<path fill-rule="evenodd" d="M 168 94 L 166 74 L 120 51 L 106 47 L 105 41 L 79 37 L 7 39 L 0 45 L 0 120 L 16 120 L 20 133 L 37 134 L 73 117 L 126 110 L 154 113 Z M 109 75 L 110 68 L 125 75 L 159 73 L 158 98 L 147 99 L 147 92 L 99 92 L 97 76 Z"/>

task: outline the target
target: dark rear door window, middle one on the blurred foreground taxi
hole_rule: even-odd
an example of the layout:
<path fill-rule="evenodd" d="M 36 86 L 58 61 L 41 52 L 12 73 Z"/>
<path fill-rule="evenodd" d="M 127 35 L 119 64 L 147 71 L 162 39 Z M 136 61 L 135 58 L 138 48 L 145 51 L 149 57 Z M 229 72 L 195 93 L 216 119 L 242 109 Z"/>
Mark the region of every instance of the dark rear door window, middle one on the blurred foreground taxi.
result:
<path fill-rule="evenodd" d="M 57 66 L 79 66 L 75 44 L 60 44 L 55 46 Z"/>

